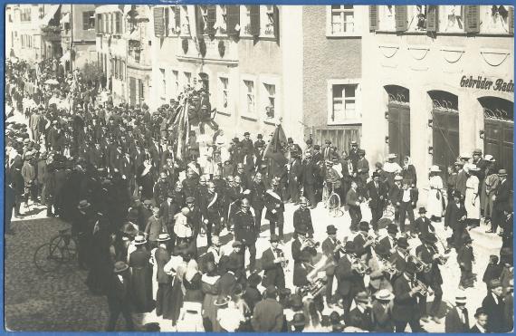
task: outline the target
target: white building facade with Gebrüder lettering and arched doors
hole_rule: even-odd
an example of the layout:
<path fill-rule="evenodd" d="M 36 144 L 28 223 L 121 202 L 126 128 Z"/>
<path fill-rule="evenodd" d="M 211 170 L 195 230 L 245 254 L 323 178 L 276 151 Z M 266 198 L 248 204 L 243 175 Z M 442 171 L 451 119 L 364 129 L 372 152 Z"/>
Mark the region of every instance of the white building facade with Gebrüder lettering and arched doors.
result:
<path fill-rule="evenodd" d="M 432 165 L 483 149 L 512 173 L 513 9 L 371 5 L 363 35 L 362 146 L 370 164 L 411 157 L 422 187 Z"/>

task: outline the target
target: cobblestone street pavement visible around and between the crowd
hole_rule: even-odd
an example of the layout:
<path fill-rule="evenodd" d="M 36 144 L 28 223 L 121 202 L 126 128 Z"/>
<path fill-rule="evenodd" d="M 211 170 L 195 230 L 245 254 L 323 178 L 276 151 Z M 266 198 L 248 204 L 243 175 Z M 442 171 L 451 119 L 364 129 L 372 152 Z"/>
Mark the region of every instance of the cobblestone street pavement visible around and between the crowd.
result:
<path fill-rule="evenodd" d="M 290 239 L 293 232 L 292 214 L 297 206 L 285 206 L 285 237 Z M 22 214 L 28 209 L 22 207 Z M 311 212 L 315 227 L 314 238 L 322 241 L 326 237 L 326 226 L 333 224 L 339 230 L 338 238 L 352 238 L 349 233 L 350 218 L 347 212 L 340 217 L 330 217 L 327 210 L 320 204 Z M 263 221 L 266 223 L 266 221 Z M 443 224 L 435 224 L 437 234 L 444 240 L 451 235 L 445 231 Z M 93 296 L 84 284 L 87 272 L 78 269 L 76 264 L 62 267 L 56 274 L 41 274 L 33 265 L 33 253 L 39 245 L 43 245 L 57 235 L 58 230 L 68 227 L 58 218 L 46 218 L 43 207 L 32 206 L 32 211 L 23 219 L 15 219 L 12 227 L 15 235 L 7 235 L 5 239 L 5 322 L 8 330 L 12 331 L 102 331 L 108 319 L 106 298 Z M 486 235 L 485 226 L 472 231 L 473 248 L 477 262 L 473 272 L 478 274 L 479 282 L 474 288 L 465 291 L 468 298 L 466 307 L 470 312 L 470 322 L 473 313 L 482 304 L 486 289 L 482 283 L 483 271 L 488 263 L 489 254 L 498 254 L 501 239 L 498 235 Z M 257 241 L 257 267 L 260 268 L 260 258 L 263 251 L 269 247 L 268 224 L 263 224 L 263 232 Z M 199 237 L 198 246 L 206 245 L 206 238 Z M 231 249 L 233 235 L 221 236 L 224 248 Z M 411 239 L 413 247 L 419 245 L 418 239 Z M 442 246 L 439 246 L 441 249 Z M 291 240 L 283 246 L 285 255 L 291 260 Z M 201 253 L 205 248 L 201 249 Z M 248 256 L 248 254 L 247 254 Z M 289 263 L 293 268 L 293 263 Z M 441 316 L 453 304 L 454 296 L 460 278 L 456 254 L 452 252 L 447 264 L 441 267 L 444 278 L 444 304 L 441 306 Z M 286 274 L 287 286 L 291 286 L 292 272 Z M 334 286 L 335 288 L 336 286 Z M 433 300 L 429 297 L 429 303 Z M 137 325 L 148 322 L 158 322 L 162 331 L 174 331 L 169 321 L 158 318 L 154 312 L 134 316 Z M 117 330 L 122 331 L 125 323 L 120 316 Z M 444 319 L 441 324 L 428 322 L 424 324 L 426 331 L 444 332 Z"/>

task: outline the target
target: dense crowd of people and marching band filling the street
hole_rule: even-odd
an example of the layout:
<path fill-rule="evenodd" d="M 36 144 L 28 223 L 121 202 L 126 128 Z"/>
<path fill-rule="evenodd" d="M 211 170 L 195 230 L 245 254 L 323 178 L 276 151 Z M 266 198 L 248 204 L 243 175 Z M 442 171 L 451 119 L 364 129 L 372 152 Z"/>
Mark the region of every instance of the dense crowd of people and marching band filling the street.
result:
<path fill-rule="evenodd" d="M 475 149 L 445 173 L 432 166 L 418 177 L 396 154 L 370 167 L 358 141 L 339 152 L 330 140 L 321 148 L 310 138 L 301 149 L 289 138 L 287 164 L 272 171 L 272 135 L 225 139 L 204 88 L 151 112 L 114 104 L 78 70 L 53 73 L 53 62 L 6 64 L 7 116 L 24 113 L 26 122 L 6 122 L 5 233 L 14 234 L 12 211 L 23 217 L 23 204 L 71 223 L 87 285 L 107 296 L 108 331 L 120 314 L 134 330 L 131 314 L 152 311 L 177 331 L 424 331 L 421 322 L 442 323 L 440 268 L 452 250 L 461 276 L 445 331 L 512 330 L 511 183 L 491 155 Z M 183 129 L 182 109 L 196 130 Z M 328 190 L 351 218 L 346 240 L 336 226 L 312 222 Z M 502 249 L 486 265 L 488 294 L 470 323 L 464 290 L 477 280 L 469 232 L 481 219 L 502 235 Z M 437 226 L 451 230 L 445 242 Z M 317 242 L 321 230 L 327 237 Z M 263 231 L 270 245 L 257 263 Z"/>

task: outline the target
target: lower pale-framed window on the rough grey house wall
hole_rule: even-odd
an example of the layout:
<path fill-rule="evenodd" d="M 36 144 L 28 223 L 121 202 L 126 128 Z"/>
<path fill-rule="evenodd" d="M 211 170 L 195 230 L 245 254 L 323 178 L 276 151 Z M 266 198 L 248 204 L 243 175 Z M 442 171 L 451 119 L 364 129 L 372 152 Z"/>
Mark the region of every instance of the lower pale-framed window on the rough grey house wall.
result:
<path fill-rule="evenodd" d="M 328 123 L 357 124 L 361 122 L 358 109 L 358 81 L 330 80 Z"/>

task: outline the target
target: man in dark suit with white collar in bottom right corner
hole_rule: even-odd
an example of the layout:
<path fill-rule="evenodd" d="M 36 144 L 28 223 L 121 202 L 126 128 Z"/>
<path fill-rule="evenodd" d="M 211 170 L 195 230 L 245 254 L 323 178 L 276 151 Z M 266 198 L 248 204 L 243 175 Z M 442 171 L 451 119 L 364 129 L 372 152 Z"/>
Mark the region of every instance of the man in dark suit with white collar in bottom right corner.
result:
<path fill-rule="evenodd" d="M 507 332 L 507 323 L 503 314 L 505 303 L 502 298 L 502 283 L 498 279 L 489 282 L 489 292 L 483 299 L 482 308 L 487 313 L 489 332 Z"/>

